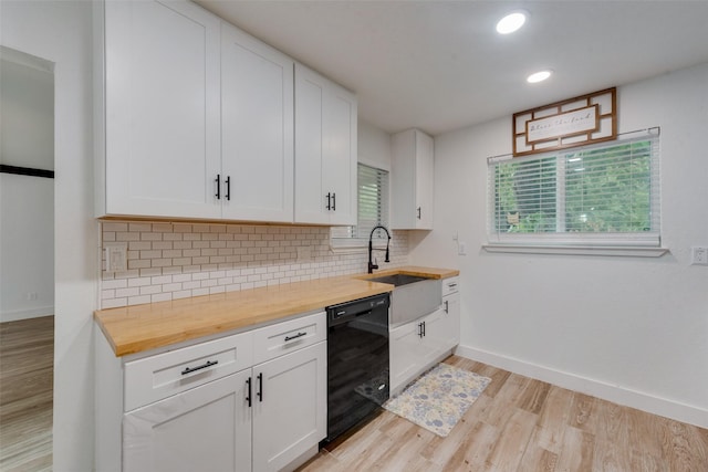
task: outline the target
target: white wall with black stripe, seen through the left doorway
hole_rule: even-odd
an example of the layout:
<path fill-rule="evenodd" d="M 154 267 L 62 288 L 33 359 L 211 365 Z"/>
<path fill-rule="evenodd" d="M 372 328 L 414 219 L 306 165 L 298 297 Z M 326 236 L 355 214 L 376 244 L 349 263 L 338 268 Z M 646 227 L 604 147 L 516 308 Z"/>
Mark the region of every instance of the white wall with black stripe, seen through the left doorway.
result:
<path fill-rule="evenodd" d="M 2 49 L 0 162 L 54 169 L 51 65 Z M 54 314 L 54 180 L 0 175 L 0 322 Z"/>

